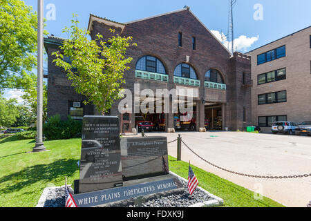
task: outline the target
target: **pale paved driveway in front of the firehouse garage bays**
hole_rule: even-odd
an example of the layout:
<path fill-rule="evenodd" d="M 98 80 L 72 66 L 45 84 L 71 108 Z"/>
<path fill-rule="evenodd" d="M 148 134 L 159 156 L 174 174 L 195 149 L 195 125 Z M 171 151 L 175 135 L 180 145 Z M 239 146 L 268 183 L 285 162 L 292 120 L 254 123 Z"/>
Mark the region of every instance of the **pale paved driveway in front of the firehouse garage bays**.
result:
<path fill-rule="evenodd" d="M 243 132 L 181 132 L 182 140 L 198 155 L 218 166 L 253 175 L 299 175 L 311 173 L 311 137 Z M 178 133 L 164 135 L 168 142 Z M 168 144 L 169 155 L 176 157 L 177 143 Z M 306 206 L 311 200 L 311 177 L 265 180 L 221 171 L 200 160 L 182 145 L 182 160 L 191 161 L 205 171 L 256 191 L 285 206 Z M 208 191 L 208 190 L 207 190 Z"/>

